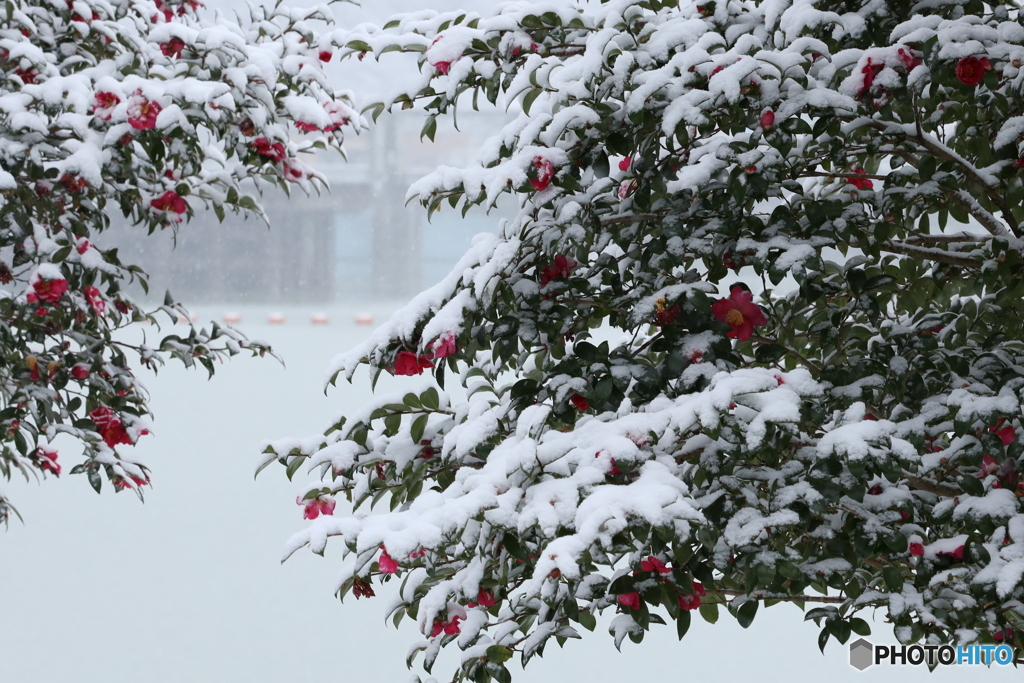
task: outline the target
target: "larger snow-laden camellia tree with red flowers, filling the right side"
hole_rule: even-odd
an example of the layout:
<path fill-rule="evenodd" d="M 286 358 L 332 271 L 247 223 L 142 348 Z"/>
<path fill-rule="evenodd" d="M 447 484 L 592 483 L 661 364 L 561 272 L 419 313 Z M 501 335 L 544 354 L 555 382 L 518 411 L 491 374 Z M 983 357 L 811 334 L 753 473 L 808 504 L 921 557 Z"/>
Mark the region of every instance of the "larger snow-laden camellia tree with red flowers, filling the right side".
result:
<path fill-rule="evenodd" d="M 347 44 L 421 53 L 375 114 L 422 104 L 427 136 L 512 101 L 411 197 L 521 211 L 334 368 L 436 389 L 268 446 L 322 476 L 289 553 L 335 538 L 342 597 L 400 581 L 411 658 L 457 645 L 475 681 L 606 610 L 616 645 L 779 602 L 821 647 L 864 612 L 1022 644 L 1012 3 L 510 3 Z"/>

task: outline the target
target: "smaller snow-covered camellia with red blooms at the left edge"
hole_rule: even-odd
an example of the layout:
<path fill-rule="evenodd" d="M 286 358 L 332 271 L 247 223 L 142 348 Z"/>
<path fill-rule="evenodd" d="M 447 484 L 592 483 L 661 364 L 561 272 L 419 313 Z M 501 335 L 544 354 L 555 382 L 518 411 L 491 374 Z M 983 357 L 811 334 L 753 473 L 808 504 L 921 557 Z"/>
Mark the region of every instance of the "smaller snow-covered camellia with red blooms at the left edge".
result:
<path fill-rule="evenodd" d="M 204 208 L 260 214 L 261 183 L 317 187 L 296 155 L 340 148 L 358 125 L 323 73 L 325 22 L 326 7 L 278 6 L 240 25 L 193 0 L 0 11 L 0 473 L 70 469 L 97 490 L 105 478 L 139 492 L 148 470 L 126 449 L 148 411 L 132 366 L 177 358 L 212 373 L 267 350 L 216 325 L 152 346 L 119 334 L 184 309 L 168 298 L 143 311 L 126 287 L 144 273 L 95 236 L 112 214 L 152 232 Z M 80 460 L 58 458 L 61 434 L 84 445 Z M 12 509 L 0 494 L 0 518 Z"/>

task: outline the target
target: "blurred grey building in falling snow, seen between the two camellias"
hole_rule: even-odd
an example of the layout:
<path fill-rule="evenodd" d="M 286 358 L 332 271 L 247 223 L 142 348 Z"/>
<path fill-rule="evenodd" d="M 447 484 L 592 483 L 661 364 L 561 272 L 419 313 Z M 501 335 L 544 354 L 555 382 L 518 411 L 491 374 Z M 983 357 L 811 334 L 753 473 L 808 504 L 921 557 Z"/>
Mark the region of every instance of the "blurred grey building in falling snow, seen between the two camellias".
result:
<path fill-rule="evenodd" d="M 474 211 L 463 218 L 445 205 L 428 222 L 419 202 L 406 205 L 411 183 L 439 165 L 470 162 L 504 116 L 460 113 L 460 130 L 439 127 L 433 143 L 420 140 L 423 121 L 418 112 L 385 114 L 346 138 L 347 162 L 323 153 L 304 159 L 331 190 L 306 197 L 296 188 L 291 198 L 268 191 L 269 228 L 230 214 L 220 223 L 203 211 L 176 236 L 116 224 L 108 240 L 145 268 L 154 296 L 169 289 L 189 304 L 410 298 L 447 274 L 472 237 L 496 231 L 502 216 Z"/>

